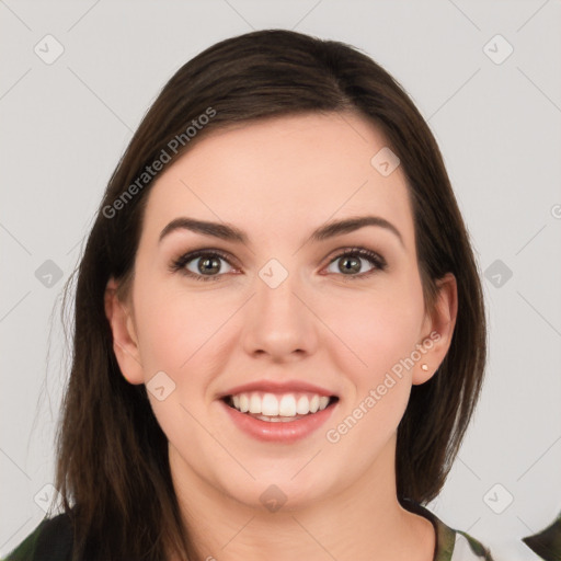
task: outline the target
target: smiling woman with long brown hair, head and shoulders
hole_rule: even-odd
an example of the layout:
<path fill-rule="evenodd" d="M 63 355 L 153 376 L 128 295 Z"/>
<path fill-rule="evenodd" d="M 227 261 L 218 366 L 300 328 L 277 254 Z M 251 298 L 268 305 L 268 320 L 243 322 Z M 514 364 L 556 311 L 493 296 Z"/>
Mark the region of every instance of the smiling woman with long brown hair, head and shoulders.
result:
<path fill-rule="evenodd" d="M 483 380 L 478 268 L 433 135 L 366 55 L 268 30 L 183 66 L 75 312 L 64 513 L 9 559 L 491 559 L 423 506 Z"/>

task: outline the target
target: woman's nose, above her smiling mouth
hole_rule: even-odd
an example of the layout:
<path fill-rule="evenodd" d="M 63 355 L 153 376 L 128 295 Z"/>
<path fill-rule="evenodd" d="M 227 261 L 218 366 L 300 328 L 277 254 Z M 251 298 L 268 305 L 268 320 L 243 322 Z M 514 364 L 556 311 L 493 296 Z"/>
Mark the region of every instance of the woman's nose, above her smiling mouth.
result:
<path fill-rule="evenodd" d="M 242 335 L 248 354 L 267 355 L 275 363 L 285 363 L 316 352 L 321 322 L 296 277 L 289 274 L 275 288 L 256 278 Z"/>

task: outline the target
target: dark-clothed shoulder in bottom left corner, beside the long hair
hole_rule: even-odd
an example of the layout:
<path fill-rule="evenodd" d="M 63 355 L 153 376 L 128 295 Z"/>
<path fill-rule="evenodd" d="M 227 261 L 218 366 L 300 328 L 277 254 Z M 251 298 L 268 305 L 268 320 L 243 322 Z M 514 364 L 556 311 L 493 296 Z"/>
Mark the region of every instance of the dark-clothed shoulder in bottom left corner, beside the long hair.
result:
<path fill-rule="evenodd" d="M 45 518 L 4 561 L 70 561 L 72 523 L 69 514 Z"/>

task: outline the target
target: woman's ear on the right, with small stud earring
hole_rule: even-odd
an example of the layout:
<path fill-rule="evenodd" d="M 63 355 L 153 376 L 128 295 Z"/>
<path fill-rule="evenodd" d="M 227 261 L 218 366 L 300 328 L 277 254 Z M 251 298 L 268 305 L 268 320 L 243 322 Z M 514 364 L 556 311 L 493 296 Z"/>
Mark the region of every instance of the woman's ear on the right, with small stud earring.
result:
<path fill-rule="evenodd" d="M 458 314 L 458 287 L 451 273 L 437 280 L 438 296 L 433 310 L 428 310 L 422 328 L 423 339 L 419 346 L 425 350 L 415 363 L 413 385 L 430 380 L 446 357 L 450 347 Z M 421 352 L 422 353 L 422 352 Z M 423 366 L 426 365 L 426 366 Z M 424 369 L 426 368 L 426 369 Z"/>

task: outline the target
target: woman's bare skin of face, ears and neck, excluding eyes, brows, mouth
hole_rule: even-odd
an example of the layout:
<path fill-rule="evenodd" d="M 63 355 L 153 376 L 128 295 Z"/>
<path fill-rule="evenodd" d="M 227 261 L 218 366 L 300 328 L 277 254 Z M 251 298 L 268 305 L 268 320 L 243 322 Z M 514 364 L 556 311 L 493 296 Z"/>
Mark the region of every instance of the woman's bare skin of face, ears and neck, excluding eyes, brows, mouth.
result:
<path fill-rule="evenodd" d="M 431 560 L 432 525 L 396 495 L 398 424 L 411 386 L 444 359 L 457 313 L 456 280 L 442 282 L 425 313 L 413 215 L 401 168 L 382 176 L 370 159 L 386 146 L 353 113 L 277 117 L 215 131 L 170 164 L 148 199 L 129 298 L 106 290 L 114 351 L 130 383 L 163 370 L 175 390 L 154 414 L 169 439 L 174 486 L 203 559 Z M 368 226 L 306 242 L 327 221 L 376 215 L 401 232 Z M 158 242 L 173 219 L 225 221 L 248 244 L 187 230 Z M 351 277 L 336 260 L 366 248 Z M 214 282 L 172 273 L 182 254 L 218 249 L 230 264 Z M 276 259 L 288 277 L 271 288 L 260 270 Z M 188 268 L 198 272 L 199 260 Z M 343 265 L 341 265 L 343 267 Z M 215 273 L 216 276 L 216 273 Z M 325 438 L 432 332 L 421 360 L 336 444 Z M 421 364 L 426 364 L 424 371 Z M 301 379 L 339 396 L 332 417 L 295 444 L 257 442 L 232 425 L 217 396 L 254 380 Z M 277 485 L 274 513 L 260 495 Z M 333 556 L 333 557 L 332 557 Z"/>

